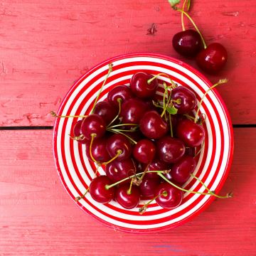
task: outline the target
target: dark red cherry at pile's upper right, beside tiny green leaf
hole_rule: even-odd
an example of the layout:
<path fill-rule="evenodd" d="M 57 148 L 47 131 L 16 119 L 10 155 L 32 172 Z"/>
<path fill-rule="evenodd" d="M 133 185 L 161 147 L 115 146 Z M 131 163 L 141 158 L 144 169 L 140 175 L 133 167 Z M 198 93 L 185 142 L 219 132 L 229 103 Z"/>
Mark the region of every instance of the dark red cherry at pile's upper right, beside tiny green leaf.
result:
<path fill-rule="evenodd" d="M 174 102 L 178 114 L 191 112 L 196 107 L 195 93 L 184 86 L 178 86 L 171 91 L 171 100 L 180 100 L 180 102 Z"/>

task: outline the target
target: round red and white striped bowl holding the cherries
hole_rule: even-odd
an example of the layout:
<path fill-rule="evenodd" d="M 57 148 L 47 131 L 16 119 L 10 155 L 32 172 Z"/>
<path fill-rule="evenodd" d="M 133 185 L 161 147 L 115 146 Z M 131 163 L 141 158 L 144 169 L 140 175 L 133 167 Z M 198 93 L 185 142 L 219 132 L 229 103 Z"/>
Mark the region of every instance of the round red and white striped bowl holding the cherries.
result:
<path fill-rule="evenodd" d="M 151 53 L 137 53 L 121 55 L 95 66 L 75 82 L 65 96 L 58 114 L 79 115 L 89 114 L 97 97 L 102 82 L 107 75 L 108 64 L 113 63 L 113 71 L 100 95 L 100 100 L 105 100 L 107 92 L 116 85 L 128 85 L 129 79 L 138 71 L 151 74 L 166 73 L 178 85 L 191 87 L 196 92 L 198 100 L 210 87 L 210 82 L 191 66 L 167 57 Z M 164 76 L 160 82 L 169 82 Z M 161 88 L 159 94 L 161 94 Z M 204 124 L 206 140 L 198 156 L 198 165 L 194 174 L 200 178 L 211 191 L 218 193 L 228 176 L 233 158 L 233 129 L 228 110 L 216 90 L 208 93 L 201 113 L 207 118 Z M 77 118 L 56 119 L 53 134 L 53 152 L 55 164 L 60 179 L 75 201 L 77 196 L 82 196 L 95 177 L 95 165 L 85 156 L 85 145 L 74 142 L 69 134 Z M 99 174 L 105 174 L 103 169 Z M 196 181 L 190 179 L 186 188 L 193 191 L 206 192 L 206 189 Z M 78 202 L 78 206 L 102 223 L 116 230 L 132 233 L 149 233 L 167 230 L 186 223 L 193 216 L 201 213 L 213 201 L 211 196 L 185 193 L 181 206 L 168 210 L 151 203 L 143 215 L 138 213 L 138 208 L 126 210 L 114 201 L 103 205 L 95 202 L 90 193 Z"/>

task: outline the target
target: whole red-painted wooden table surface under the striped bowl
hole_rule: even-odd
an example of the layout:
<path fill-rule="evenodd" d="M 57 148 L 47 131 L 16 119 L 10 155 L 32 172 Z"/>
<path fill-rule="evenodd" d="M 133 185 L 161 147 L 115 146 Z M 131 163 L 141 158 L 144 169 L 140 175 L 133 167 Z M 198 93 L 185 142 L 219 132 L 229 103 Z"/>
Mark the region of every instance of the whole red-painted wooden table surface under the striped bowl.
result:
<path fill-rule="evenodd" d="M 222 193 L 235 197 L 174 230 L 133 235 L 106 228 L 70 200 L 55 171 L 48 113 L 80 75 L 114 55 L 184 60 L 171 46 L 180 14 L 167 0 L 1 1 L 0 255 L 256 255 L 256 2 L 192 2 L 207 43 L 228 49 L 225 70 L 208 78 L 230 80 L 218 88 L 235 127 Z"/>

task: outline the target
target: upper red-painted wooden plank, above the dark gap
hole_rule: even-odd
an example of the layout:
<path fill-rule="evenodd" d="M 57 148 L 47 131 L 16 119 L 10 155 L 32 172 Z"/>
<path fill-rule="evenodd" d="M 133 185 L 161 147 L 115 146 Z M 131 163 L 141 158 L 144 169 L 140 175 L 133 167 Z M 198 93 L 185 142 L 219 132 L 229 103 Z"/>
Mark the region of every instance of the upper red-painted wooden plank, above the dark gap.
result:
<path fill-rule="evenodd" d="M 255 6 L 254 0 L 193 1 L 191 12 L 208 43 L 228 48 L 227 67 L 208 78 L 230 79 L 219 90 L 234 124 L 256 119 Z M 171 46 L 181 23 L 167 0 L 3 0 L 0 21 L 0 126 L 52 125 L 48 112 L 58 110 L 73 82 L 115 55 L 154 52 L 184 60 Z M 152 23 L 154 35 L 148 34 Z"/>

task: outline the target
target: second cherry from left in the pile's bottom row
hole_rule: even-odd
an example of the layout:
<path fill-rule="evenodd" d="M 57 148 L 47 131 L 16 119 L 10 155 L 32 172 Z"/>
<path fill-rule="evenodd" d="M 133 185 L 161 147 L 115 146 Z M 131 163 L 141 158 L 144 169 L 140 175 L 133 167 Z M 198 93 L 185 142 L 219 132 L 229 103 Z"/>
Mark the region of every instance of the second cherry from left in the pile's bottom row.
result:
<path fill-rule="evenodd" d="M 115 193 L 115 200 L 120 206 L 126 209 L 135 208 L 139 204 L 139 188 L 137 186 L 132 186 L 131 193 L 129 194 L 127 191 L 129 191 L 129 184 L 119 186 Z"/>

